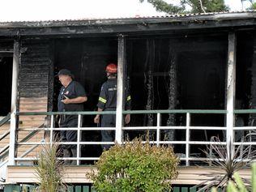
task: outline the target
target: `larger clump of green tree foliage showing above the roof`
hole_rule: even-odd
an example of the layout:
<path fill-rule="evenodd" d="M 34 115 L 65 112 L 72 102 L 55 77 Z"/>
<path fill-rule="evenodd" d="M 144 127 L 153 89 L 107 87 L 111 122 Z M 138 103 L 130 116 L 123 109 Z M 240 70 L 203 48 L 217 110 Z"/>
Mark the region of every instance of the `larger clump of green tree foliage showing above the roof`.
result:
<path fill-rule="evenodd" d="M 145 0 L 139 0 L 144 2 Z M 165 2 L 164 0 L 147 0 L 151 3 L 156 11 L 163 11 L 167 14 L 182 14 L 182 13 L 202 13 L 202 12 L 220 12 L 228 11 L 228 6 L 225 5 L 224 0 L 180 0 L 179 5 Z M 190 7 L 190 11 L 186 7 Z"/>

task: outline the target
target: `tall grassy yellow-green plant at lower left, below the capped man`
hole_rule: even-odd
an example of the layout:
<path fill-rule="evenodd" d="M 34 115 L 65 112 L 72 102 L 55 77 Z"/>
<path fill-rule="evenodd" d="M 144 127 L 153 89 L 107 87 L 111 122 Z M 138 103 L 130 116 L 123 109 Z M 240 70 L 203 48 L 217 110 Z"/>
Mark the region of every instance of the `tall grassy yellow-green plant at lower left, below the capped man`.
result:
<path fill-rule="evenodd" d="M 36 191 L 41 192 L 62 192 L 66 191 L 66 185 L 63 183 L 63 168 L 60 149 L 57 142 L 52 145 L 44 144 L 38 155 L 36 177 L 38 178 L 38 187 Z"/>

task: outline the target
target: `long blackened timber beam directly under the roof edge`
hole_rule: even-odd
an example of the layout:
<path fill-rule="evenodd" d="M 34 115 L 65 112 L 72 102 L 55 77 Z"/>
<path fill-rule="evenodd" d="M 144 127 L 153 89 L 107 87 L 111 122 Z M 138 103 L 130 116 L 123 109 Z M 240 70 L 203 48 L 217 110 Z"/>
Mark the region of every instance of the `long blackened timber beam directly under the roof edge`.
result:
<path fill-rule="evenodd" d="M 228 17 L 185 17 L 161 19 L 112 19 L 87 20 L 44 23 L 0 23 L 0 36 L 61 36 L 61 35 L 89 35 L 89 34 L 132 34 L 139 32 L 164 32 L 182 29 L 202 28 L 254 28 L 256 24 L 255 13 L 248 17 L 236 19 Z M 28 27 L 29 26 L 29 27 Z"/>

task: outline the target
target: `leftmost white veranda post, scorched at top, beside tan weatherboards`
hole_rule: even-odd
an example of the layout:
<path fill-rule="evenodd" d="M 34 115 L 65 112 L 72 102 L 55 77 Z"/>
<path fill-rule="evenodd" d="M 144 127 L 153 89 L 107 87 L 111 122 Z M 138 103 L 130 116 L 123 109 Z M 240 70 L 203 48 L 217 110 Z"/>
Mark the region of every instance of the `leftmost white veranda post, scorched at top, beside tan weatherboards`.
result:
<path fill-rule="evenodd" d="M 11 87 L 11 126 L 9 143 L 9 165 L 15 165 L 15 139 L 17 125 L 17 98 L 18 98 L 18 74 L 19 74 L 19 41 L 14 42 L 12 87 Z"/>

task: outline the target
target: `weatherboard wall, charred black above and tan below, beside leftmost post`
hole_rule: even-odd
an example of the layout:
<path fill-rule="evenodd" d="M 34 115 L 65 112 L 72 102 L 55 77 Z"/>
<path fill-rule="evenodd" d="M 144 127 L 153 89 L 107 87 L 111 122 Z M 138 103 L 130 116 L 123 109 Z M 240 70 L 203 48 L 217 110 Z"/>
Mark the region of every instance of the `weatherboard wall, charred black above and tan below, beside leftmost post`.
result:
<path fill-rule="evenodd" d="M 53 95 L 53 59 L 51 41 L 44 39 L 29 39 L 20 41 L 19 55 L 19 111 L 45 112 L 52 109 Z M 45 116 L 19 116 L 19 128 L 41 127 Z M 28 134 L 28 130 L 18 131 L 18 141 Z M 40 142 L 45 139 L 45 131 L 33 133 L 28 142 Z M 17 156 L 21 156 L 31 146 L 17 146 Z M 36 147 L 27 157 L 35 156 L 41 147 Z"/>

